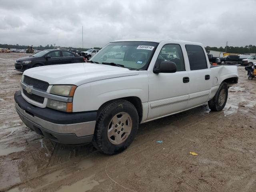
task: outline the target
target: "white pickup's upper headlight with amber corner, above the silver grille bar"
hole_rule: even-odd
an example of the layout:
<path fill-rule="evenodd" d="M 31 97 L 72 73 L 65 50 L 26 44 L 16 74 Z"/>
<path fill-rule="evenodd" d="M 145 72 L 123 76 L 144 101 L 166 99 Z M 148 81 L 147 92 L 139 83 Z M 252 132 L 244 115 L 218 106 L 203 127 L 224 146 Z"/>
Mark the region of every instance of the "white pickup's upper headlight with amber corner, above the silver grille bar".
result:
<path fill-rule="evenodd" d="M 54 85 L 52 86 L 50 93 L 65 97 L 73 97 L 76 88 L 77 86 L 75 85 Z"/>

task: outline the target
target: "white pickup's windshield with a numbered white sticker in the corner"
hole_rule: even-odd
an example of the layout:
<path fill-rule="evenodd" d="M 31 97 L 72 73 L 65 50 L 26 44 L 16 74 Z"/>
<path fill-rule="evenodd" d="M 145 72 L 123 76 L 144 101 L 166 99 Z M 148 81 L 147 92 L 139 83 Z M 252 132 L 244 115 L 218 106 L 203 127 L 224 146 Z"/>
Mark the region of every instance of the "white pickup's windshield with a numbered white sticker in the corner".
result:
<path fill-rule="evenodd" d="M 112 42 L 91 60 L 99 64 L 115 63 L 125 68 L 146 70 L 157 45 L 155 42 Z"/>

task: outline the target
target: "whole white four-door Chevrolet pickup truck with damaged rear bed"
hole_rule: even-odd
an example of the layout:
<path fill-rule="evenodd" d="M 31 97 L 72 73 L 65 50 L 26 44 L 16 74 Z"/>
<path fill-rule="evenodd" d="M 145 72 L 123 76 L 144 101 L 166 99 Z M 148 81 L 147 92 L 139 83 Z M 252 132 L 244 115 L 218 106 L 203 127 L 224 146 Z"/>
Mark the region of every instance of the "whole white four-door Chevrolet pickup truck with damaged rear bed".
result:
<path fill-rule="evenodd" d="M 122 57 L 106 57 L 106 52 Z M 210 67 L 201 43 L 133 39 L 110 42 L 87 63 L 26 70 L 14 99 L 30 129 L 62 144 L 92 142 L 125 150 L 139 124 L 208 102 L 224 108 L 236 66 Z"/>

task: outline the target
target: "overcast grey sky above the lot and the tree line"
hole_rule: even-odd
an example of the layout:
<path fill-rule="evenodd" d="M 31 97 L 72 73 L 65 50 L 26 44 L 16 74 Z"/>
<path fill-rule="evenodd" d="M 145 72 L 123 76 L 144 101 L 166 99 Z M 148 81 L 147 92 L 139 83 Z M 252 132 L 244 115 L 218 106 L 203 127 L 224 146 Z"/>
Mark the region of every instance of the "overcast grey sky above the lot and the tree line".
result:
<path fill-rule="evenodd" d="M 256 45 L 256 0 L 0 0 L 0 43 L 102 47 L 127 38 Z"/>

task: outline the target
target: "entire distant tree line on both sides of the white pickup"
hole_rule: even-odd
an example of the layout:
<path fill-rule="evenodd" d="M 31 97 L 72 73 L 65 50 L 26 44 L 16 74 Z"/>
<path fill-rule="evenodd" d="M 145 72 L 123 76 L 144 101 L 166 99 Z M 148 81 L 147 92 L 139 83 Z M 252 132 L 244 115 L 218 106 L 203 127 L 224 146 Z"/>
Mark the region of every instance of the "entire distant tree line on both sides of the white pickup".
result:
<path fill-rule="evenodd" d="M 26 45 L 9 45 L 9 44 L 0 44 L 0 48 L 10 48 L 10 49 L 26 49 Z M 34 49 L 37 50 L 42 50 L 42 49 L 53 49 L 54 46 L 52 44 L 48 44 L 46 46 L 34 46 Z M 66 49 L 74 49 L 74 50 L 79 50 L 79 51 L 87 51 L 88 49 L 101 49 L 100 47 L 94 47 L 94 48 L 75 48 L 75 47 L 62 47 Z M 213 51 L 222 51 L 222 52 L 227 52 L 227 53 L 240 53 L 240 54 L 252 54 L 256 53 L 256 46 L 255 45 L 246 45 L 246 46 L 241 46 L 241 47 L 233 47 L 233 46 L 227 46 L 225 47 L 211 47 L 211 46 L 206 46 L 205 49 L 208 50 L 213 50 Z M 226 51 L 225 51 L 226 50 Z"/>

